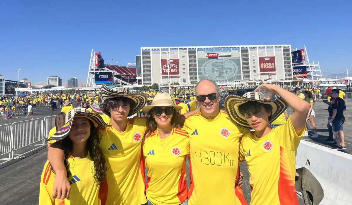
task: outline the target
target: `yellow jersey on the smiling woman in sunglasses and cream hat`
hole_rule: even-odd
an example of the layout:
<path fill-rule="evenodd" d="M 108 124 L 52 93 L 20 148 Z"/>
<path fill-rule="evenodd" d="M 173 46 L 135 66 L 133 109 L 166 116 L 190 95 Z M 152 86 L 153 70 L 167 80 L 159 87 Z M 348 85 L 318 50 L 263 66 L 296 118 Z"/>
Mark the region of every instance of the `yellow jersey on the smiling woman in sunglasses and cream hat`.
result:
<path fill-rule="evenodd" d="M 160 139 L 155 130 L 145 140 L 143 154 L 148 168 L 147 199 L 154 205 L 179 205 L 186 200 L 186 156 L 189 154 L 186 130 L 174 128 L 165 139 Z"/>

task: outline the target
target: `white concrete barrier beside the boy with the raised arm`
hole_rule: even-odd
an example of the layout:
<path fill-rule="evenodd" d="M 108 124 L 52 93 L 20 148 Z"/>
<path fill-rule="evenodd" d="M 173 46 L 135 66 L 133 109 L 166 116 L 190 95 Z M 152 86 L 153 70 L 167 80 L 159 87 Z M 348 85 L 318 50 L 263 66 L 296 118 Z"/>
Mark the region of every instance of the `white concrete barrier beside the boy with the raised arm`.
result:
<path fill-rule="evenodd" d="M 296 168 L 306 167 L 324 190 L 320 204 L 352 204 L 352 155 L 301 140 Z"/>

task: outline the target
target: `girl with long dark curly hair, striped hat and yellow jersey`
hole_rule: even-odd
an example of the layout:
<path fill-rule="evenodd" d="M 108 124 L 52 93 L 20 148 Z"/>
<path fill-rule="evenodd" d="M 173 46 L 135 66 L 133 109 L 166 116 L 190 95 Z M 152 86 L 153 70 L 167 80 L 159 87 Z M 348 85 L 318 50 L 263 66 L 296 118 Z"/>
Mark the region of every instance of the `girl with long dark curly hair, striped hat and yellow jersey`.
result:
<path fill-rule="evenodd" d="M 64 150 L 70 199 L 53 197 L 55 172 L 47 161 L 40 178 L 39 205 L 100 205 L 99 188 L 106 180 L 107 167 L 99 147 L 98 130 L 108 125 L 99 115 L 84 108 L 70 110 L 65 122 L 52 138 L 60 141 Z"/>

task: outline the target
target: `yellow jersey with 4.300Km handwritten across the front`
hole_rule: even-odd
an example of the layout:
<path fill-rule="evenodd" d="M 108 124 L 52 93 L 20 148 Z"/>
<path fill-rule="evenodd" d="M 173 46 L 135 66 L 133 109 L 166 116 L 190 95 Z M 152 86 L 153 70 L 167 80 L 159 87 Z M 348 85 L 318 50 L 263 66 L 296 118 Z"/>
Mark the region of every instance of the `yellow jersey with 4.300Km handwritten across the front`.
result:
<path fill-rule="evenodd" d="M 226 111 L 214 119 L 199 112 L 184 124 L 190 144 L 190 190 L 188 204 L 247 204 L 239 186 L 239 139 L 248 130 L 236 127 Z"/>

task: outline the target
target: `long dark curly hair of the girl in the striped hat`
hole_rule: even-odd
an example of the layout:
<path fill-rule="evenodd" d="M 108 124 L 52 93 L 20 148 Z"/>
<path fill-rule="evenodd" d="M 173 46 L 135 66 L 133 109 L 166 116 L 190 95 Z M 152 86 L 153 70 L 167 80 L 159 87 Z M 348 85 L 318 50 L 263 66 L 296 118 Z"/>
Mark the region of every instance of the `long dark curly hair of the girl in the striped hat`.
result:
<path fill-rule="evenodd" d="M 106 167 L 106 164 L 105 164 L 104 154 L 103 154 L 101 148 L 99 147 L 100 138 L 99 138 L 98 129 L 96 129 L 96 127 L 94 127 L 94 124 L 92 121 L 89 121 L 89 123 L 90 123 L 90 136 L 87 139 L 86 149 L 90 153 L 90 158 L 92 159 L 93 164 L 94 164 L 95 181 L 98 182 L 98 185 L 101 185 L 106 180 L 106 171 L 108 168 Z M 64 154 L 65 154 L 64 165 L 65 165 L 66 171 L 67 171 L 67 178 L 69 178 L 71 175 L 71 172 L 69 170 L 70 164 L 67 161 L 67 159 L 70 158 L 70 156 L 71 156 L 72 141 L 71 141 L 70 137 L 68 137 L 68 136 L 65 139 L 63 139 L 62 141 L 63 141 L 62 148 L 63 148 Z"/>

